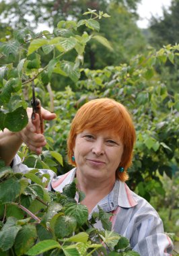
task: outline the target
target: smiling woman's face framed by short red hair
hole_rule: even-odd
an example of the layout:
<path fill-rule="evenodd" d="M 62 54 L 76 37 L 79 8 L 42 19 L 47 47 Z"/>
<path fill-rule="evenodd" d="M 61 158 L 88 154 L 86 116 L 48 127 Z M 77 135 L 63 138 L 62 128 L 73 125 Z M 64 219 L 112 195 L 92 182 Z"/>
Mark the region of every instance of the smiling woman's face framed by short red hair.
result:
<path fill-rule="evenodd" d="M 75 139 L 73 148 L 77 171 L 86 178 L 116 179 L 123 145 L 114 131 L 84 130 Z"/>

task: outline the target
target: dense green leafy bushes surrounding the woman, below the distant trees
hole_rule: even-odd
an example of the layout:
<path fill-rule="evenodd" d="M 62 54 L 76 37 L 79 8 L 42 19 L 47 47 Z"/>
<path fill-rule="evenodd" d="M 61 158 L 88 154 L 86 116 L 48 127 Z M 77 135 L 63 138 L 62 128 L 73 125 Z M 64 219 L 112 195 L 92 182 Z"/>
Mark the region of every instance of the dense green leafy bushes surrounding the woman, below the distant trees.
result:
<path fill-rule="evenodd" d="M 137 143 L 129 185 L 139 195 L 149 200 L 156 191 L 164 197 L 160 176 L 171 178 L 178 171 L 179 95 L 169 92 L 157 73 L 167 62 L 176 65 L 178 44 L 158 51 L 149 48 L 117 66 L 88 69 L 83 59 L 89 42 L 100 42 L 106 53 L 112 46 L 97 33 L 98 19 L 108 14 L 91 9 L 85 14 L 90 18 L 61 20 L 52 33 L 34 33 L 28 27 L 14 30 L 13 38 L 0 44 L 0 129 L 16 132 L 26 126 L 32 81 L 42 105 L 57 113 L 56 121 L 46 123 L 48 145 L 41 156 L 22 147 L 20 156 L 31 172 L 14 174 L 1 162 L 1 255 L 106 255 L 110 251 L 109 255 L 137 255 L 130 251 L 126 238 L 110 231 L 110 216 L 101 209 L 88 222 L 86 207 L 73 199 L 75 183 L 63 194 L 47 193 L 44 187 L 49 177 L 40 177 L 37 170 L 49 168 L 61 174 L 71 168 L 66 160 L 67 134 L 76 110 L 87 100 L 110 97 L 131 111 Z M 53 81 L 60 80 L 65 86 L 59 82 L 52 90 Z M 80 191 L 79 195 L 84 196 Z M 98 219 L 106 231 L 94 228 Z"/>

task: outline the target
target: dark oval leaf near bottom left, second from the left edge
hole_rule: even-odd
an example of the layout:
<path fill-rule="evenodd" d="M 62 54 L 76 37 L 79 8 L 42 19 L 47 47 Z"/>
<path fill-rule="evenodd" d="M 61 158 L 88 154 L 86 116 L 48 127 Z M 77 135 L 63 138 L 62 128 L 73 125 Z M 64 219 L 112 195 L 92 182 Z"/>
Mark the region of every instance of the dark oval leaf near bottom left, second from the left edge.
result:
<path fill-rule="evenodd" d="M 15 253 L 18 256 L 25 255 L 30 247 L 34 245 L 36 237 L 36 227 L 31 224 L 24 225 L 15 237 Z"/>

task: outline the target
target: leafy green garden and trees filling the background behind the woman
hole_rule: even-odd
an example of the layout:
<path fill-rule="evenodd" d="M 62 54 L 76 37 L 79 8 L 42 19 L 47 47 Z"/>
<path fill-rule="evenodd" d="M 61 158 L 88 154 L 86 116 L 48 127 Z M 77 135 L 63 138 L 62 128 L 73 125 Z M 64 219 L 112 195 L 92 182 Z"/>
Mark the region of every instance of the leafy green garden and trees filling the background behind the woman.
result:
<path fill-rule="evenodd" d="M 164 9 L 163 18 L 151 18 L 143 30 L 137 27 L 139 2 L 1 1 L 0 129 L 15 132 L 26 125 L 34 81 L 42 106 L 55 112 L 57 119 L 46 123 L 48 145 L 42 155 L 22 146 L 20 156 L 32 168 L 62 174 L 71 168 L 66 139 L 77 109 L 94 98 L 122 102 L 137 130 L 127 183 L 155 207 L 177 246 L 179 0 Z M 50 31 L 37 31 L 43 22 Z M 11 179 L 8 175 L 3 174 L 0 190 Z M 16 199 L 1 194 L 3 221 L 12 213 L 22 218 L 21 210 L 8 206 Z"/>

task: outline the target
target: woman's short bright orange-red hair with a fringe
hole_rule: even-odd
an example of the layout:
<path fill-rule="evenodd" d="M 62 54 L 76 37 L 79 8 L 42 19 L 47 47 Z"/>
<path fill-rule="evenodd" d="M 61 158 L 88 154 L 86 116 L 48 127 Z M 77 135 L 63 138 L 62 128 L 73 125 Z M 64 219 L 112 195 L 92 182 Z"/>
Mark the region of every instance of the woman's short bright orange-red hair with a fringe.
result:
<path fill-rule="evenodd" d="M 90 129 L 94 132 L 112 130 L 119 135 L 124 146 L 119 167 L 123 167 L 124 172 L 116 170 L 116 179 L 127 181 L 127 168 L 132 163 L 136 138 L 133 121 L 127 108 L 110 98 L 91 100 L 79 108 L 71 123 L 71 130 L 67 140 L 68 158 L 69 163 L 72 165 L 74 165 L 72 156 L 76 136 L 85 129 Z"/>

